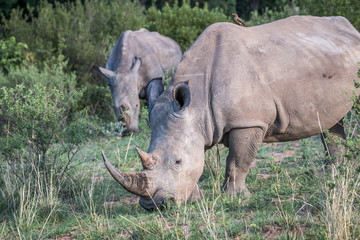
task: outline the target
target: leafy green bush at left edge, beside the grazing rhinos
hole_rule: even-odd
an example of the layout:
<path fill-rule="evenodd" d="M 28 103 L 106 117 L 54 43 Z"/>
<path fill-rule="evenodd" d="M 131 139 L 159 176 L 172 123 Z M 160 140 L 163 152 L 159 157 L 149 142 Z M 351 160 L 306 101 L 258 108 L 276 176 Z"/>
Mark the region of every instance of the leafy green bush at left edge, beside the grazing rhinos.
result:
<path fill-rule="evenodd" d="M 17 82 L 21 76 L 24 81 Z M 88 135 L 84 113 L 69 119 L 82 96 L 75 89 L 75 75 L 54 66 L 43 71 L 20 68 L 6 78 L 14 82 L 0 90 L 0 158 L 23 183 L 37 188 L 50 181 L 60 184 Z M 21 169 L 26 174 L 19 174 Z"/>

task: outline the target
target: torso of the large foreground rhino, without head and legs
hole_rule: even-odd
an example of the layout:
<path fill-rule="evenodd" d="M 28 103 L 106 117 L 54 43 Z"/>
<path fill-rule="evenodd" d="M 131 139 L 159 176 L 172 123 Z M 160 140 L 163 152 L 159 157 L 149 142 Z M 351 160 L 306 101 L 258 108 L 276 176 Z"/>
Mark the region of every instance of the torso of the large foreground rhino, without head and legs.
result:
<path fill-rule="evenodd" d="M 318 120 L 330 128 L 351 108 L 359 42 L 342 17 L 296 16 L 251 28 L 218 23 L 184 54 L 174 81 L 191 79 L 193 104 L 205 100 L 212 144 L 246 127 L 266 130 L 265 141 L 299 139 L 320 132 Z"/>

